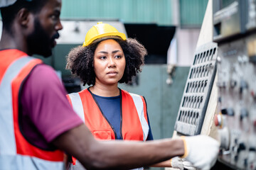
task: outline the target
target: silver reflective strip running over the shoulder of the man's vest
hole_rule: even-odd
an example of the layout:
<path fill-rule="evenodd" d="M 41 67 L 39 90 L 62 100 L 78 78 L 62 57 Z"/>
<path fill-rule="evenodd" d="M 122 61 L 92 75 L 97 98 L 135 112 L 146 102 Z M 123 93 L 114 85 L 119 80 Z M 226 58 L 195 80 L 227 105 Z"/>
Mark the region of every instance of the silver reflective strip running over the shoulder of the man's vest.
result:
<path fill-rule="evenodd" d="M 33 57 L 22 57 L 6 70 L 0 84 L 0 154 L 16 154 L 11 81 Z"/>

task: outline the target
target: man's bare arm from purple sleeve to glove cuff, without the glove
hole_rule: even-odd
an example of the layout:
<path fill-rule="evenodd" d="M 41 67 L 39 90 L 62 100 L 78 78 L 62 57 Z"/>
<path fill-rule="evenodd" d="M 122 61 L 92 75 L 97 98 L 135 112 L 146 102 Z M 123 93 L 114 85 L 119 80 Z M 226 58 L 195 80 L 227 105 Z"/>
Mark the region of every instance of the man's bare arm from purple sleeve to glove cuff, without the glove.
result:
<path fill-rule="evenodd" d="M 133 169 L 184 154 L 182 140 L 99 141 L 85 124 L 64 132 L 53 145 L 73 155 L 86 169 Z"/>

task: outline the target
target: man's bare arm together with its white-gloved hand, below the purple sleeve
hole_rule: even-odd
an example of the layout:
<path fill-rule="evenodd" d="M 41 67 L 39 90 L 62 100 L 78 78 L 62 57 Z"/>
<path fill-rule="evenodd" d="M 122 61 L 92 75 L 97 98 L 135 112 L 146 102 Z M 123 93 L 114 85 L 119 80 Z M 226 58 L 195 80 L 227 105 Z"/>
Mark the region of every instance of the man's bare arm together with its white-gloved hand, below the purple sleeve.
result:
<path fill-rule="evenodd" d="M 193 139 L 196 144 L 191 142 Z M 217 157 L 218 144 L 215 145 L 215 142 L 210 137 L 202 136 L 149 142 L 99 141 L 82 124 L 57 137 L 53 145 L 73 155 L 86 169 L 133 169 L 176 156 L 185 156 L 194 166 L 204 168 L 210 167 L 212 159 Z"/>

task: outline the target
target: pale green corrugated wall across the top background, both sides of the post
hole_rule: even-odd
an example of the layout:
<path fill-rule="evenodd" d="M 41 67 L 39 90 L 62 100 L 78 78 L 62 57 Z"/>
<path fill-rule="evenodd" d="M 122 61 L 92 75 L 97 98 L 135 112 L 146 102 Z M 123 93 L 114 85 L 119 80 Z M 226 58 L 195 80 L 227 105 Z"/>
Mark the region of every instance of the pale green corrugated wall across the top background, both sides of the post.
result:
<path fill-rule="evenodd" d="M 182 27 L 200 27 L 208 0 L 179 0 Z M 63 0 L 62 18 L 119 19 L 173 26 L 174 0 Z M 178 17 L 178 16 L 177 16 Z"/>

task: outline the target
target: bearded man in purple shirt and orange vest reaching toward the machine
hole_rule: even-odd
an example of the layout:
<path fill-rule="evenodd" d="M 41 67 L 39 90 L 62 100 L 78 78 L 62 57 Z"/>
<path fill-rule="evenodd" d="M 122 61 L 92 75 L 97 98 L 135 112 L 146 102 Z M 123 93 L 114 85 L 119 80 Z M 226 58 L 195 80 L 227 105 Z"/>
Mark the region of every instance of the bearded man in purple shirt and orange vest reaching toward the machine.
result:
<path fill-rule="evenodd" d="M 180 156 L 210 169 L 218 142 L 195 136 L 101 142 L 65 98 L 48 57 L 58 38 L 61 0 L 1 0 L 0 169 L 63 169 L 63 151 L 86 169 L 132 169 Z"/>

